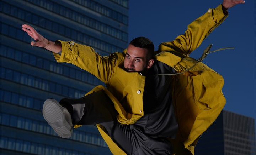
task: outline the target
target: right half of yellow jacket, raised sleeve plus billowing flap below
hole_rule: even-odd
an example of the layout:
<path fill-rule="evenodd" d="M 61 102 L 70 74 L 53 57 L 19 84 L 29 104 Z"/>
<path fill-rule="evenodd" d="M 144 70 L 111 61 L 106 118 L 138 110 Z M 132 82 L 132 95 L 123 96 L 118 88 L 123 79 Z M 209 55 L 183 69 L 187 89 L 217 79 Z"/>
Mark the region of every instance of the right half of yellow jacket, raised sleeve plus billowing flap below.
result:
<path fill-rule="evenodd" d="M 185 71 L 195 63 L 187 61 L 192 59 L 187 57 L 188 54 L 195 50 L 226 17 L 221 5 L 209 9 L 206 14 L 188 25 L 185 34 L 178 36 L 174 41 L 160 44 L 157 51 L 157 54 L 160 54 L 156 58 L 179 72 Z M 162 51 L 164 52 L 161 53 Z M 172 57 L 167 59 L 166 52 L 183 59 L 174 65 L 174 62 L 170 61 Z M 174 77 L 172 98 L 179 125 L 177 140 L 183 142 L 185 148 L 193 153 L 197 138 L 218 117 L 226 100 L 222 93 L 224 80 L 221 75 L 201 62 L 189 72 L 187 76 L 180 74 Z M 190 76 L 195 72 L 196 76 Z"/>

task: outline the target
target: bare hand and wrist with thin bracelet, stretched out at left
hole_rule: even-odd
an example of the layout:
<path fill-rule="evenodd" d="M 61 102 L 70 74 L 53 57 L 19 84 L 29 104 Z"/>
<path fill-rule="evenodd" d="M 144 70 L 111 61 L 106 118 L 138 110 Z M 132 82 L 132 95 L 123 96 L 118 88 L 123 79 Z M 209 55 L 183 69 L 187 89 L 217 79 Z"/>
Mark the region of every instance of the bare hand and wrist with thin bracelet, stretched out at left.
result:
<path fill-rule="evenodd" d="M 35 40 L 31 42 L 32 46 L 44 47 L 54 53 L 60 53 L 60 51 L 62 50 L 62 46 L 59 42 L 53 42 L 44 38 L 32 26 L 23 24 L 22 30 Z"/>

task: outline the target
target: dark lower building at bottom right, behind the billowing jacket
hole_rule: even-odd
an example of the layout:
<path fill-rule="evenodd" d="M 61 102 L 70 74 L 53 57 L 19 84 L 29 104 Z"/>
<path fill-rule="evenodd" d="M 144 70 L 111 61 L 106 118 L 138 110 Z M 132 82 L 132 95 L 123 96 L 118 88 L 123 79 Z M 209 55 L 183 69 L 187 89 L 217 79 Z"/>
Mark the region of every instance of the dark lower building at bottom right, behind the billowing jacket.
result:
<path fill-rule="evenodd" d="M 223 110 L 199 139 L 197 155 L 256 155 L 255 120 Z"/>

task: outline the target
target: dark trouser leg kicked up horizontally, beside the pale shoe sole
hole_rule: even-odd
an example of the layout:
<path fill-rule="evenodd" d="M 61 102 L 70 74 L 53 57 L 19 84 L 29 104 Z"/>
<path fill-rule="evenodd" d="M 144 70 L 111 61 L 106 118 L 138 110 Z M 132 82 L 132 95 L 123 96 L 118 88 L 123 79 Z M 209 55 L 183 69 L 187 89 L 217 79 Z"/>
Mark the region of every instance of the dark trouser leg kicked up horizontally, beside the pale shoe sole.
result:
<path fill-rule="evenodd" d="M 59 103 L 68 109 L 73 125 L 110 122 L 118 114 L 113 102 L 103 91 L 97 91 L 79 99 L 64 98 Z"/>

